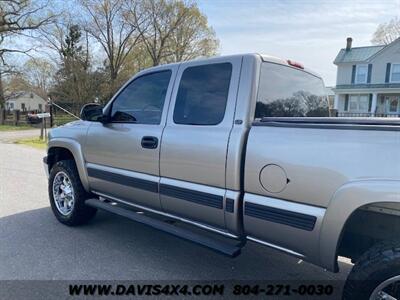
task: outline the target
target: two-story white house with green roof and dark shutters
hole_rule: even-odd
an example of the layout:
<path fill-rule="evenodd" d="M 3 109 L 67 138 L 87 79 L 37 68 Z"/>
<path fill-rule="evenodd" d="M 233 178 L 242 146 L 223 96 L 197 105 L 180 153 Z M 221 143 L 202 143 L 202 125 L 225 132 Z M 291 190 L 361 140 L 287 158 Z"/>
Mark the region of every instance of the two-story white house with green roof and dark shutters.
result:
<path fill-rule="evenodd" d="M 400 39 L 352 47 L 352 38 L 347 38 L 334 64 L 334 108 L 339 116 L 400 117 Z"/>

